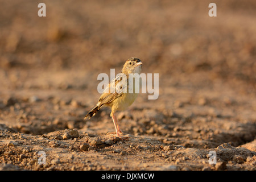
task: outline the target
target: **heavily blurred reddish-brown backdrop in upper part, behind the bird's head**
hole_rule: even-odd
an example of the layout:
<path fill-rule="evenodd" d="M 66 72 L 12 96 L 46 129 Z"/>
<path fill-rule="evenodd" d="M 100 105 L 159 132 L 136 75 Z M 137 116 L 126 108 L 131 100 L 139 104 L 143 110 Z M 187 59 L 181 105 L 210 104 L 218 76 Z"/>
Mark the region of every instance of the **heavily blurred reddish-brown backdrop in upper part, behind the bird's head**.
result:
<path fill-rule="evenodd" d="M 98 73 L 139 57 L 145 72 L 203 72 L 255 89 L 256 2 L 214 1 L 209 17 L 210 2 L 0 1 L 0 67 Z"/>

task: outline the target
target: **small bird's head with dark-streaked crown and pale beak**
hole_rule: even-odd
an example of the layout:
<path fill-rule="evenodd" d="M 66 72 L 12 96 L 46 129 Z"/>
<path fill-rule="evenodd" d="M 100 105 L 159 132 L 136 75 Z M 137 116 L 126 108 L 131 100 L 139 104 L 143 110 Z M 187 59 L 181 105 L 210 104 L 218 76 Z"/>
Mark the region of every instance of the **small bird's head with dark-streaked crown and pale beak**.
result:
<path fill-rule="evenodd" d="M 131 57 L 127 59 L 125 65 L 123 65 L 122 73 L 141 73 L 142 62 L 137 57 Z"/>

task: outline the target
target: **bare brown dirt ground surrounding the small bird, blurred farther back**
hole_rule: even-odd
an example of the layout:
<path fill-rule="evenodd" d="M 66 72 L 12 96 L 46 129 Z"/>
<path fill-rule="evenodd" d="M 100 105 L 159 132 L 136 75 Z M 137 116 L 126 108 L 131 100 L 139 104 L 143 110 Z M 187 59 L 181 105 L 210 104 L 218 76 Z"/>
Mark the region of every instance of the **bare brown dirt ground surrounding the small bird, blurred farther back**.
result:
<path fill-rule="evenodd" d="M 39 3 L 0 1 L 1 170 L 256 170 L 256 1 Z M 159 98 L 118 112 L 121 140 L 84 116 L 130 57 Z"/>

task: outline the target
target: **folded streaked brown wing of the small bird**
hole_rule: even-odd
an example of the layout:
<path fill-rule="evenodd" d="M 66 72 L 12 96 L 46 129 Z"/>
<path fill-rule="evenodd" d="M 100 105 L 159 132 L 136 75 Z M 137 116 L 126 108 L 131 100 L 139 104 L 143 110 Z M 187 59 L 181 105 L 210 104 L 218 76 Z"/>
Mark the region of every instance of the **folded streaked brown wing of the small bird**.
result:
<path fill-rule="evenodd" d="M 116 98 L 122 96 L 127 90 L 127 77 L 125 74 L 118 74 L 105 88 L 98 102 L 100 107 L 104 104 L 110 103 Z"/>

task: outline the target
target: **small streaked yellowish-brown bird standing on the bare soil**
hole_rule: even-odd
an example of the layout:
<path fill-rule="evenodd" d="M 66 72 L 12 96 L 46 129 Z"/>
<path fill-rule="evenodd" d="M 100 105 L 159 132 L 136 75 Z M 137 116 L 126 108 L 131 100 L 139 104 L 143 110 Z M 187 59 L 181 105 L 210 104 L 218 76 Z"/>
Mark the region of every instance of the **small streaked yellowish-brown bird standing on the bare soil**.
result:
<path fill-rule="evenodd" d="M 116 111 L 126 110 L 138 96 L 138 93 L 134 92 L 135 82 L 133 82 L 133 90 L 129 92 L 129 74 L 130 73 L 141 73 L 142 62 L 137 57 L 131 57 L 126 60 L 125 64 L 122 68 L 122 73 L 118 74 L 112 81 L 109 82 L 108 86 L 105 88 L 104 93 L 100 96 L 98 100 L 98 104 L 89 111 L 88 114 L 85 115 L 85 118 L 89 119 L 93 117 L 98 110 L 103 106 L 108 106 L 111 108 L 110 116 L 113 119 L 115 132 L 117 133 L 117 137 L 120 137 L 119 133 L 122 131 L 119 128 L 117 117 L 115 115 Z M 126 80 L 123 80 L 125 79 Z M 126 81 L 126 82 L 123 82 Z M 123 84 L 125 83 L 125 84 Z M 114 88 L 114 92 L 111 92 L 112 88 Z M 130 86 L 131 88 L 131 86 Z"/>

